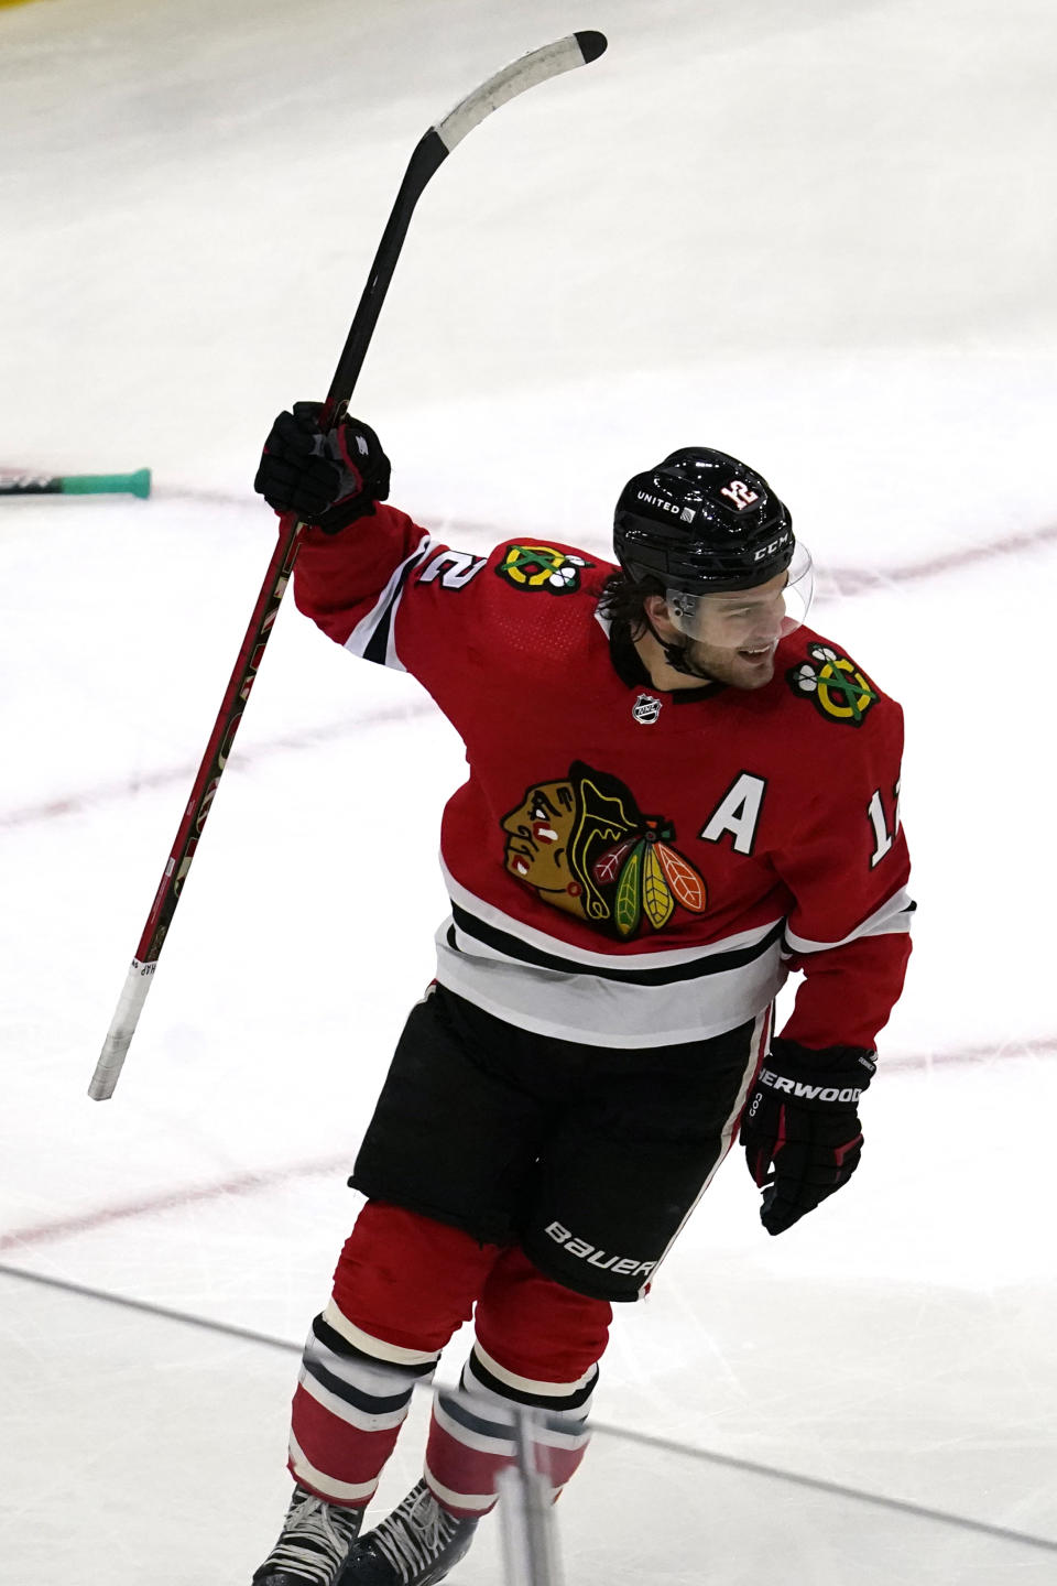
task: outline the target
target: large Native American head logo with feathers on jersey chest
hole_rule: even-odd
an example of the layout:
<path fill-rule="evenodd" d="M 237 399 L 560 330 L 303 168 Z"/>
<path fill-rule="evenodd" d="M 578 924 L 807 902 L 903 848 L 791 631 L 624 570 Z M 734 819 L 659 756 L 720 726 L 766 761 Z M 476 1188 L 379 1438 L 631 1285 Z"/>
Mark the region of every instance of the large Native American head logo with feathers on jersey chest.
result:
<path fill-rule="evenodd" d="M 661 931 L 677 906 L 707 907 L 702 877 L 672 847 L 672 823 L 643 815 L 623 782 L 582 760 L 561 782 L 526 788 L 502 829 L 512 875 L 544 902 L 621 939 L 643 921 Z"/>

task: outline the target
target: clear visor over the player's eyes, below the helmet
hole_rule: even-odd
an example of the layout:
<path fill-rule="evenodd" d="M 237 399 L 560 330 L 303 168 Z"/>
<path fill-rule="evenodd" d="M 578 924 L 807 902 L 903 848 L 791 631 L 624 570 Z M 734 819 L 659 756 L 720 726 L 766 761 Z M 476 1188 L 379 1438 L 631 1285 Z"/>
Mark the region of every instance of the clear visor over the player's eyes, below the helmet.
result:
<path fill-rule="evenodd" d="M 784 573 L 748 590 L 685 595 L 666 590 L 669 617 L 680 633 L 721 650 L 765 650 L 807 620 L 815 569 L 807 546 L 797 544 Z"/>

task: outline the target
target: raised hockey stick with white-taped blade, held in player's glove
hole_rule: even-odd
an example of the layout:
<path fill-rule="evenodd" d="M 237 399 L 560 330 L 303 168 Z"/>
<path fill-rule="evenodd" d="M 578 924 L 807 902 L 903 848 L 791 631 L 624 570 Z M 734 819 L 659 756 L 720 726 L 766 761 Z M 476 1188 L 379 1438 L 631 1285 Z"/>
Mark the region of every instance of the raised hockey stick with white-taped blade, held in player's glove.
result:
<path fill-rule="evenodd" d="M 545 82 L 547 78 L 556 78 L 561 71 L 570 71 L 574 67 L 597 60 L 604 49 L 605 36 L 594 32 L 570 33 L 553 44 L 534 49 L 502 71 L 496 71 L 493 78 L 488 78 L 479 89 L 474 89 L 444 121 L 439 121 L 436 127 L 429 127 L 422 136 L 407 162 L 407 170 L 404 171 L 393 211 L 382 233 L 379 251 L 374 255 L 363 297 L 352 319 L 349 338 L 326 395 L 322 420 L 325 425 L 334 423 L 345 412 L 382 303 L 385 301 L 388 284 L 393 279 L 393 270 L 396 268 L 410 217 L 429 178 L 439 170 L 452 149 L 463 141 L 466 133 L 482 122 L 485 116 L 490 116 L 493 109 L 506 105 L 507 100 L 515 98 L 537 82 Z M 298 522 L 293 512 L 287 512 L 279 519 L 279 541 L 268 563 L 268 573 L 265 574 L 265 582 L 257 596 L 235 671 L 228 680 L 217 720 L 206 744 L 198 776 L 190 790 L 173 852 L 166 860 L 162 882 L 151 904 L 147 923 L 143 928 L 143 936 L 136 945 L 135 958 L 117 1001 L 117 1010 L 103 1042 L 98 1063 L 95 1064 L 95 1074 L 89 1085 L 89 1096 L 93 1101 L 106 1101 L 108 1096 L 113 1096 L 117 1085 L 117 1077 L 122 1071 L 143 1004 L 151 990 L 162 945 L 176 914 L 181 890 L 187 880 L 206 817 L 212 807 L 220 776 L 231 753 L 231 744 L 235 742 L 249 691 L 254 687 L 265 646 L 279 614 L 279 603 L 290 582 L 301 528 L 303 523 Z"/>

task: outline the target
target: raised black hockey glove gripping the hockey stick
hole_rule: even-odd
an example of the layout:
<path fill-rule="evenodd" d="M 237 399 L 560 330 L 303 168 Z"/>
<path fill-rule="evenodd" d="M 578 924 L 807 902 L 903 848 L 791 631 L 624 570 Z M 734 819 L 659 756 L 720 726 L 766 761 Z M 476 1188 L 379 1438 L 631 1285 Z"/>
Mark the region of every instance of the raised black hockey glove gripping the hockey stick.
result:
<path fill-rule="evenodd" d="M 293 412 L 279 414 L 254 490 L 276 512 L 296 512 L 301 522 L 336 534 L 385 501 L 390 462 L 368 423 L 342 419 L 323 433 L 322 411 L 319 401 L 295 401 Z"/>

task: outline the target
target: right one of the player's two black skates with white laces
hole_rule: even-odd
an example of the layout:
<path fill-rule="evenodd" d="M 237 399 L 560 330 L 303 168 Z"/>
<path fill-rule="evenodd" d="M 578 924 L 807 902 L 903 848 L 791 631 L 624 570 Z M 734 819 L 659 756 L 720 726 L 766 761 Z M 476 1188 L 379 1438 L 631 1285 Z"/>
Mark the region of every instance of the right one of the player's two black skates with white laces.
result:
<path fill-rule="evenodd" d="M 434 1586 L 469 1550 L 477 1519 L 456 1519 L 425 1481 L 352 1550 L 341 1586 Z"/>

